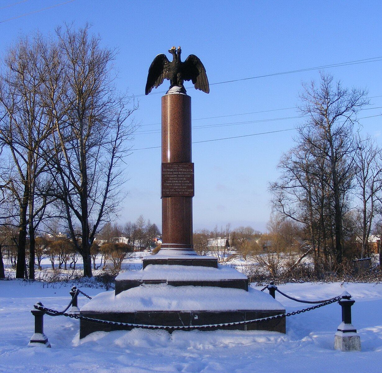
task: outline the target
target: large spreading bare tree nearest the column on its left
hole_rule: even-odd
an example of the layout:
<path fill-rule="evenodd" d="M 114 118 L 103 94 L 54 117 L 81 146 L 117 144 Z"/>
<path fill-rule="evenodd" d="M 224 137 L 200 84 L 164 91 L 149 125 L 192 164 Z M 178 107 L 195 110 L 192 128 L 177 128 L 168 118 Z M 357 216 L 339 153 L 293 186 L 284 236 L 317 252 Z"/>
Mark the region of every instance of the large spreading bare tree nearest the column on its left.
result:
<path fill-rule="evenodd" d="M 134 127 L 127 123 L 126 95 L 113 83 L 115 51 L 100 46 L 89 26 L 57 28 L 58 65 L 45 80 L 46 106 L 53 118 L 52 192 L 62 203 L 62 215 L 84 275 L 91 277 L 90 247 L 102 223 L 120 208 L 126 140 Z M 77 239 L 75 226 L 80 227 Z"/>

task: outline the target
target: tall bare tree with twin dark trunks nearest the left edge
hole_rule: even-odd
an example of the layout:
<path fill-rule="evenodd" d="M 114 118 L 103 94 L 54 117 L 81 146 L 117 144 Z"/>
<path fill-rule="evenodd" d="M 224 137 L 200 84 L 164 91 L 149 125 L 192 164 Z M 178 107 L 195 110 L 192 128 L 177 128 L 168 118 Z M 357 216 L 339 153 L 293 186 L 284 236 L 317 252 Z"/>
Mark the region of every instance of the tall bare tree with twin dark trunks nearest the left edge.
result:
<path fill-rule="evenodd" d="M 52 134 L 49 114 L 42 104 L 42 76 L 52 59 L 42 61 L 44 42 L 40 34 L 20 37 L 5 57 L 0 75 L 0 146 L 3 161 L 2 188 L 14 195 L 18 207 L 18 265 L 16 277 L 26 274 L 26 236 L 30 236 L 29 277 L 34 279 L 35 231 L 47 205 L 44 176 L 47 163 L 41 156 L 45 140 Z M 29 227 L 29 228 L 28 228 Z M 29 232 L 27 232 L 27 230 Z"/>

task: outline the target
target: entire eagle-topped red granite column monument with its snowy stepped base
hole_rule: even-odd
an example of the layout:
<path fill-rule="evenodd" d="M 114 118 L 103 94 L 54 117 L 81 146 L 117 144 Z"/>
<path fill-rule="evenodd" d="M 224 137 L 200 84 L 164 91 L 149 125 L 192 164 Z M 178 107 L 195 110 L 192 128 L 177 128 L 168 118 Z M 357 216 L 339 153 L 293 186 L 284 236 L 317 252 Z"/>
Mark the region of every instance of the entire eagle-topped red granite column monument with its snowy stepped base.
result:
<path fill-rule="evenodd" d="M 146 94 L 164 79 L 170 88 L 162 97 L 162 247 L 143 258 L 142 269 L 115 279 L 115 292 L 100 293 L 80 313 L 89 318 L 129 323 L 101 324 L 81 319 L 80 338 L 94 331 L 129 330 L 138 325 L 192 327 L 206 330 L 269 330 L 285 333 L 285 318 L 251 321 L 285 313 L 267 293 L 248 287 L 248 278 L 217 258 L 193 249 L 194 164 L 191 155 L 191 98 L 183 82 L 191 80 L 209 93 L 206 70 L 195 55 L 181 62 L 181 48 L 159 54 L 147 77 Z M 234 325 L 217 325 L 238 323 Z M 190 328 L 191 329 L 191 328 Z"/>

